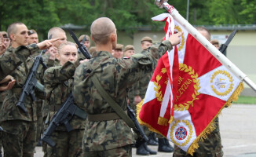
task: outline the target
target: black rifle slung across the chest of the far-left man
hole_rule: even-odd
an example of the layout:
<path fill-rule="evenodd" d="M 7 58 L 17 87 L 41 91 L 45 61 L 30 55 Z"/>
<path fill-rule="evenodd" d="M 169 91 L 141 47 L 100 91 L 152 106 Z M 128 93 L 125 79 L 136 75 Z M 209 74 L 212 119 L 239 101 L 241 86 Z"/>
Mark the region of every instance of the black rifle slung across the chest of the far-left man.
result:
<path fill-rule="evenodd" d="M 46 51 L 46 49 L 43 51 Z M 38 87 L 40 90 L 43 90 L 42 84 L 40 84 L 36 79 L 36 72 L 38 71 L 39 64 L 42 64 L 42 66 L 46 68 L 46 64 L 44 64 L 42 60 L 43 51 L 41 51 L 40 55 L 35 57 L 34 64 L 31 68 L 31 71 L 29 72 L 29 75 L 27 76 L 26 82 L 22 89 L 22 93 L 20 94 L 20 98 L 18 100 L 18 103 L 16 104 L 16 106 L 19 107 L 26 114 L 27 109 L 24 106 L 25 98 L 28 95 L 30 95 L 32 100 L 35 101 L 35 87 Z"/>

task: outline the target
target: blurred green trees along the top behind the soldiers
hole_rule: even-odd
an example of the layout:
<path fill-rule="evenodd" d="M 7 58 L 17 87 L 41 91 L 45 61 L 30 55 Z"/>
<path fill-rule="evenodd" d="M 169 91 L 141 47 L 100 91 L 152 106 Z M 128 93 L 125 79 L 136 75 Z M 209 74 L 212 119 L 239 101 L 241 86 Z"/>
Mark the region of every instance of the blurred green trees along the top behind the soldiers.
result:
<path fill-rule="evenodd" d="M 187 0 L 169 3 L 181 16 L 186 16 Z M 50 27 L 64 24 L 82 25 L 89 31 L 93 20 L 108 16 L 118 30 L 128 34 L 141 26 L 158 29 L 163 23 L 153 22 L 151 18 L 165 12 L 154 0 L 1 0 L 0 30 L 21 21 L 42 35 L 46 35 Z M 194 25 L 255 24 L 255 15 L 256 0 L 197 0 L 190 1 L 188 21 Z"/>

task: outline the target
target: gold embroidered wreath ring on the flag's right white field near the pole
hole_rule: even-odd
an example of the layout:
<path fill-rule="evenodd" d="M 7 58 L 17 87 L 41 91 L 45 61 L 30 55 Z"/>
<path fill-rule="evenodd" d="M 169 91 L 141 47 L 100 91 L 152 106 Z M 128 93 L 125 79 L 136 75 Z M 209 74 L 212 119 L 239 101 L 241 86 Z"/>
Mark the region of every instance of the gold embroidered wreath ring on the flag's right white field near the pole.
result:
<path fill-rule="evenodd" d="M 229 94 L 229 93 L 232 91 L 234 84 L 233 84 L 232 75 L 230 75 L 229 72 L 227 72 L 227 71 L 222 71 L 222 70 L 218 70 L 218 71 L 215 71 L 215 72 L 214 72 L 214 74 L 213 74 L 213 75 L 211 76 L 211 78 L 210 78 L 210 83 L 213 83 L 213 82 L 214 82 L 214 78 L 215 78 L 217 75 L 219 75 L 219 74 L 225 75 L 226 77 L 229 78 L 229 82 L 230 82 L 229 89 L 227 89 L 225 92 L 222 92 L 222 93 L 221 93 L 221 92 L 219 92 L 217 89 L 215 89 L 213 85 L 210 85 L 210 87 L 211 87 L 211 89 L 213 89 L 214 93 L 216 93 L 218 96 L 223 97 L 223 96 Z M 225 79 L 221 79 L 221 78 L 220 78 L 220 79 L 218 80 L 218 82 L 215 82 L 215 83 L 217 83 L 217 85 L 218 85 L 219 88 L 225 88 L 225 82 L 224 82 L 224 81 L 225 81 Z"/>

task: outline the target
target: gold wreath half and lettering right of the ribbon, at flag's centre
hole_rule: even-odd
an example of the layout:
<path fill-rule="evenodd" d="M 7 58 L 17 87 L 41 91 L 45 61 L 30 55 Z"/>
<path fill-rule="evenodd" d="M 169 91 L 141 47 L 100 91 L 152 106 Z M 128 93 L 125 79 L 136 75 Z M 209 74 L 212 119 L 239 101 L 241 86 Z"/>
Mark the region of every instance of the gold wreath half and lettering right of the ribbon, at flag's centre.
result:
<path fill-rule="evenodd" d="M 191 84 L 192 82 L 196 83 L 194 85 L 194 93 L 192 93 L 192 100 L 188 100 L 187 102 L 185 102 L 184 104 L 174 104 L 174 110 L 175 111 L 184 111 L 184 110 L 188 110 L 189 106 L 192 105 L 193 106 L 193 101 L 194 100 L 198 100 L 197 96 L 199 96 L 199 92 L 198 90 L 201 88 L 200 87 L 200 82 L 198 79 L 198 75 L 195 74 L 195 71 L 192 69 L 192 67 L 187 66 L 186 64 L 179 64 L 179 70 L 180 71 L 185 71 L 188 73 L 188 75 L 190 75 L 191 79 L 187 79 L 185 81 L 185 83 L 181 86 L 180 89 L 177 90 L 177 97 L 176 100 L 181 97 L 181 95 L 185 92 L 185 89 L 188 88 L 189 84 Z M 179 78 L 179 84 L 183 81 L 182 78 Z"/>

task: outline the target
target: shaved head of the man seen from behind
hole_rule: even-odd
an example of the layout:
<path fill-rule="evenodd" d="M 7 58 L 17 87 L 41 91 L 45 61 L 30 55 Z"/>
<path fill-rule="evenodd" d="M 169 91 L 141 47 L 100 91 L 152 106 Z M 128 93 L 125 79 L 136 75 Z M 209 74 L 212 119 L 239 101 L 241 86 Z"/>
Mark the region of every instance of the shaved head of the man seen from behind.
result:
<path fill-rule="evenodd" d="M 112 33 L 116 33 L 115 24 L 108 17 L 101 17 L 93 21 L 90 33 L 96 44 L 106 44 Z"/>

